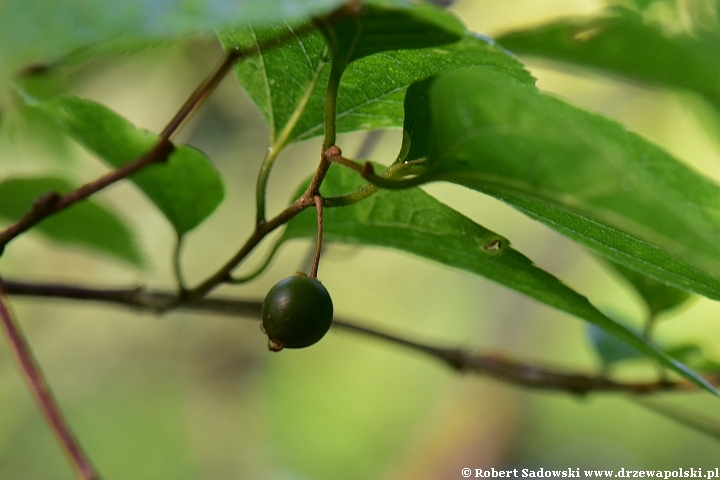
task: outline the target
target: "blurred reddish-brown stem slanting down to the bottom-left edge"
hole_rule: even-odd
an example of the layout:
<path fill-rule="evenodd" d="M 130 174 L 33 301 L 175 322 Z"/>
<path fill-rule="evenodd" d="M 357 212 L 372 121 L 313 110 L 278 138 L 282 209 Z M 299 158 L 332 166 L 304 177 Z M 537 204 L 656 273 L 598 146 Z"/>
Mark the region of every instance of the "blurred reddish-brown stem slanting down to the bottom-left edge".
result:
<path fill-rule="evenodd" d="M 47 420 L 50 428 L 55 433 L 58 441 L 65 450 L 70 463 L 72 463 L 75 468 L 78 477 L 83 480 L 99 480 L 100 475 L 95 471 L 87 455 L 75 438 L 75 435 L 73 435 L 70 431 L 65 418 L 57 406 L 57 402 L 53 398 L 52 393 L 43 378 L 37 362 L 32 356 L 30 347 L 25 341 L 19 326 L 13 319 L 5 300 L 5 292 L 3 291 L 3 284 L 1 280 L 0 319 L 2 320 L 3 330 L 5 331 L 8 343 L 15 355 L 15 360 L 18 362 L 20 371 L 25 377 L 25 381 L 30 387 L 33 397 L 35 397 L 35 401 L 45 416 L 45 420 Z"/>

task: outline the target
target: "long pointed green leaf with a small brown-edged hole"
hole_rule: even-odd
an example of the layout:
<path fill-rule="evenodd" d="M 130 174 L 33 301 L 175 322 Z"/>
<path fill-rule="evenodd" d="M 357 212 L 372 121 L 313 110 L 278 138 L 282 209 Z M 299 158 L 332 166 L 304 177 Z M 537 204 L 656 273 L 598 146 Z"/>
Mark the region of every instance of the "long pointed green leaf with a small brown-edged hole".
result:
<path fill-rule="evenodd" d="M 321 193 L 338 196 L 363 182 L 358 175 L 332 167 Z M 297 195 L 307 188 L 301 186 Z M 316 215 L 309 209 L 291 220 L 283 240 L 314 238 Z M 444 265 L 483 275 L 542 303 L 597 325 L 645 355 L 715 393 L 704 379 L 674 361 L 653 344 L 603 315 L 590 302 L 510 247 L 507 239 L 476 224 L 420 189 L 382 190 L 350 206 L 324 210 L 324 239 L 376 245 L 412 253 Z"/>

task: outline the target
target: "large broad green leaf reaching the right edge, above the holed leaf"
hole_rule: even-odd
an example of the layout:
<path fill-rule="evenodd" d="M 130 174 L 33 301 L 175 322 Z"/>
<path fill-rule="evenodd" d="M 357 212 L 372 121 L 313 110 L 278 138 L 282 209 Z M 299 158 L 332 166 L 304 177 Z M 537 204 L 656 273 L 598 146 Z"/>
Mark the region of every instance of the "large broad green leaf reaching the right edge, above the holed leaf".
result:
<path fill-rule="evenodd" d="M 710 180 L 615 122 L 487 69 L 439 76 L 429 103 L 428 181 L 498 197 L 610 260 L 720 299 Z"/>

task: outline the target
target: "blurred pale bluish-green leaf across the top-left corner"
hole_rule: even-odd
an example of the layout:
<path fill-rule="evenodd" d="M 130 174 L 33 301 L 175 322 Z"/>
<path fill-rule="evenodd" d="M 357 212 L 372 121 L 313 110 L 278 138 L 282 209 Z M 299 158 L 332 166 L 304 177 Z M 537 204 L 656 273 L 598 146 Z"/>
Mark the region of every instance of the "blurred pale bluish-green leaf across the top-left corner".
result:
<path fill-rule="evenodd" d="M 0 87 L 18 68 L 107 41 L 153 43 L 251 22 L 300 21 L 344 0 L 5 0 L 0 3 Z M 398 2 L 404 3 L 404 2 Z"/>

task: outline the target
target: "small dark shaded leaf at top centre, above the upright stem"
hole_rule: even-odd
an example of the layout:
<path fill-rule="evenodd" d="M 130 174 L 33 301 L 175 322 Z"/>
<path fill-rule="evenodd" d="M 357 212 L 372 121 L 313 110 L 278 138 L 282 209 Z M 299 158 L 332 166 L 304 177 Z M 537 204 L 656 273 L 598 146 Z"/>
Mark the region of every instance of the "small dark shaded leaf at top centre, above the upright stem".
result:
<path fill-rule="evenodd" d="M 359 15 L 319 24 L 341 70 L 375 53 L 452 43 L 465 33 L 465 27 L 455 16 L 428 5 L 406 8 L 367 5 Z"/>

